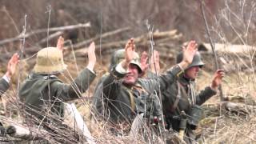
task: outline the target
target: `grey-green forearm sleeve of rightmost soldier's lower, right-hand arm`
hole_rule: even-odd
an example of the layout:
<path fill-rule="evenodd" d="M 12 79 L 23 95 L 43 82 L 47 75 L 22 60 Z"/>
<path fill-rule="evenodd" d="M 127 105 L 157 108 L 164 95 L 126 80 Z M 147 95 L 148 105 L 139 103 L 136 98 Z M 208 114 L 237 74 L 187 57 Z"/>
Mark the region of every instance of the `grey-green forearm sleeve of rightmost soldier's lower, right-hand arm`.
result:
<path fill-rule="evenodd" d="M 209 98 L 211 98 L 215 94 L 217 94 L 217 91 L 211 89 L 210 86 L 207 86 L 205 90 L 200 91 L 200 93 L 196 97 L 197 105 L 201 106 L 204 102 L 206 102 Z"/>

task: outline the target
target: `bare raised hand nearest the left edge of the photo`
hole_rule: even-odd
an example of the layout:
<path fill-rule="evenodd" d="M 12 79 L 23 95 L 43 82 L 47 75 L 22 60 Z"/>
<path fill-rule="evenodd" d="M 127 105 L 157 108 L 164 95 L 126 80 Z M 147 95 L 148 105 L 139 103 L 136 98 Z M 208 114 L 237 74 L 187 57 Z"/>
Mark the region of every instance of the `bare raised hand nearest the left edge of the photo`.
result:
<path fill-rule="evenodd" d="M 7 71 L 6 71 L 6 76 L 8 78 L 11 78 L 12 75 L 14 75 L 16 66 L 19 62 L 19 56 L 17 53 L 15 53 L 9 60 L 8 65 L 7 65 Z"/>

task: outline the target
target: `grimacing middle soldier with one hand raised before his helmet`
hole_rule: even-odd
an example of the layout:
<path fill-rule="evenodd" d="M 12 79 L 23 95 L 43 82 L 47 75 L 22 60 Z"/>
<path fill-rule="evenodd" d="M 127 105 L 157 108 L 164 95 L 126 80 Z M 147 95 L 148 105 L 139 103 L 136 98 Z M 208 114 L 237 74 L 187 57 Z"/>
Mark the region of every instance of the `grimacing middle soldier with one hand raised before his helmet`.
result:
<path fill-rule="evenodd" d="M 134 49 L 134 40 L 130 39 L 122 54 L 116 53 L 116 59 L 120 57 L 122 60 L 102 79 L 105 115 L 115 124 L 130 124 L 137 115 L 155 122 L 161 118 L 160 102 L 154 94 L 158 82 L 139 78 L 142 66 Z"/>

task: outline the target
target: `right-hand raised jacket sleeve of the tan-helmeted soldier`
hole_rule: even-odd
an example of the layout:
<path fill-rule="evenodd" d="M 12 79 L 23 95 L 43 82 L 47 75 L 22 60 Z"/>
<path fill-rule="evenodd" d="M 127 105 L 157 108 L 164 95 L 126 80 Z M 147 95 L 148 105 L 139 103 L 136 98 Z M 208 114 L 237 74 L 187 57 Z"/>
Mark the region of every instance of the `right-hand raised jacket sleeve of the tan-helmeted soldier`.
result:
<path fill-rule="evenodd" d="M 62 101 L 70 101 L 81 96 L 89 88 L 95 76 L 91 70 L 86 68 L 78 74 L 78 77 L 71 84 L 54 82 L 52 84 L 52 90 L 55 91 L 55 95 L 61 98 Z"/>

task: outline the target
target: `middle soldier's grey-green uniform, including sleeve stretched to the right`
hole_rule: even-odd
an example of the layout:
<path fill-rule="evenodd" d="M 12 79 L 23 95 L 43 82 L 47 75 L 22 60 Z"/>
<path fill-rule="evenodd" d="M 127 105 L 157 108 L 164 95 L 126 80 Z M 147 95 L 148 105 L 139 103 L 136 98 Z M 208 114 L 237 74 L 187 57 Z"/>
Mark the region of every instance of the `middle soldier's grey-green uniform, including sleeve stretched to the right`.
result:
<path fill-rule="evenodd" d="M 182 69 L 179 66 L 174 66 L 159 77 L 138 78 L 134 86 L 129 87 L 122 83 L 122 78 L 126 74 L 118 72 L 114 67 L 109 75 L 102 78 L 102 86 L 98 86 L 102 88 L 98 90 L 98 94 L 103 93 L 103 104 L 105 105 L 102 108 L 101 101 L 98 101 L 98 106 L 106 112 L 107 118 L 115 122 L 131 120 L 134 115 L 145 111 L 146 100 L 149 100 L 147 98 L 153 98 L 151 100 L 154 100 L 156 107 L 160 108 L 160 102 L 155 97 L 154 91 L 158 90 L 159 85 L 161 91 L 168 90 L 170 84 L 178 78 L 176 75 L 181 73 Z M 160 115 L 161 111 L 158 108 L 156 108 L 158 111 L 156 114 Z"/>

